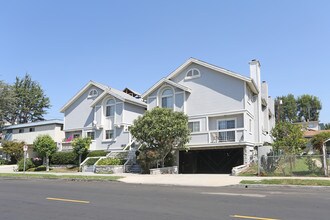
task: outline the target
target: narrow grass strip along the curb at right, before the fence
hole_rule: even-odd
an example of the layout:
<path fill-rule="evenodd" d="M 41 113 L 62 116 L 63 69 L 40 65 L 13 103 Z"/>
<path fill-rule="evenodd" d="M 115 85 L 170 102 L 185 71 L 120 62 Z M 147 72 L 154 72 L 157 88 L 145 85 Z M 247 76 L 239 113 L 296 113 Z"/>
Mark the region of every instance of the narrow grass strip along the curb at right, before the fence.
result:
<path fill-rule="evenodd" d="M 240 182 L 240 184 L 330 186 L 330 180 L 319 180 L 319 179 L 263 179 L 263 180 L 242 180 Z"/>

